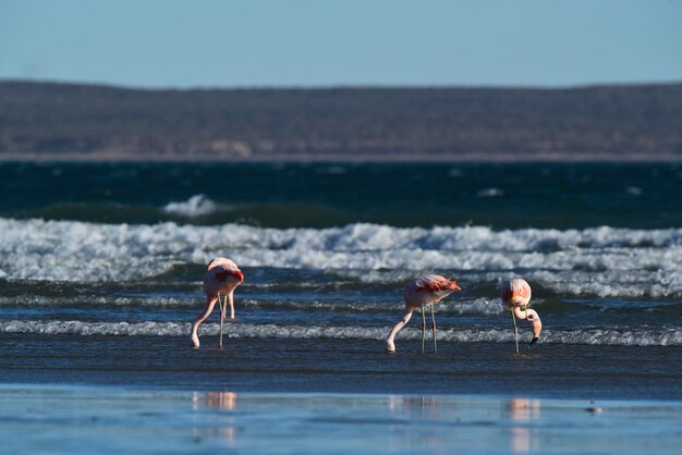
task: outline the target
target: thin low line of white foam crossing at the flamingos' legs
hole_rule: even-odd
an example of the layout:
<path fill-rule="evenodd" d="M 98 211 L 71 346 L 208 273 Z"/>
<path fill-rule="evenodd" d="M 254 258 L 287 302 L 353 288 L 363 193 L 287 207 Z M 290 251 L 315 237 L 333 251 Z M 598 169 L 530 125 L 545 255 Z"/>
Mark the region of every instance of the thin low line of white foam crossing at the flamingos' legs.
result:
<path fill-rule="evenodd" d="M 0 321 L 0 333 L 33 333 L 41 335 L 126 335 L 126 336 L 188 336 L 190 323 L 183 322 L 82 322 L 82 321 Z M 230 324 L 226 336 L 233 339 L 285 340 L 376 340 L 386 337 L 389 327 L 362 328 L 338 325 Z M 219 325 L 202 325 L 202 335 L 217 335 Z M 400 332 L 400 340 L 421 340 L 416 329 Z M 513 343 L 509 329 L 444 329 L 438 332 L 441 342 Z M 543 343 L 590 344 L 621 346 L 682 346 L 682 330 L 647 328 L 610 328 L 546 330 Z"/>

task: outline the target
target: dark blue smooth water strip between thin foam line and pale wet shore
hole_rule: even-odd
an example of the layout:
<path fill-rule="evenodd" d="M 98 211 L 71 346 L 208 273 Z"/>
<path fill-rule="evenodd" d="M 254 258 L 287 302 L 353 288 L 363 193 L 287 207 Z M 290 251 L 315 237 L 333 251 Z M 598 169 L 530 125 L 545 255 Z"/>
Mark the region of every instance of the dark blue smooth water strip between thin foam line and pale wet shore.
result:
<path fill-rule="evenodd" d="M 682 401 L 682 348 L 440 341 L 0 334 L 0 382 L 192 391 L 522 394 Z"/>

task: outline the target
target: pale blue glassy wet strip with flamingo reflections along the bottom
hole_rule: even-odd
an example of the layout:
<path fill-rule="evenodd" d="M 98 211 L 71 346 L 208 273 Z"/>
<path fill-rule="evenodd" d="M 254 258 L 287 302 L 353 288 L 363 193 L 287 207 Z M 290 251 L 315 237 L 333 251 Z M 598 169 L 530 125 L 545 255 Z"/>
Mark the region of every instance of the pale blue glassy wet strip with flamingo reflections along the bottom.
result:
<path fill-rule="evenodd" d="M 9 453 L 675 454 L 682 402 L 0 386 Z"/>

